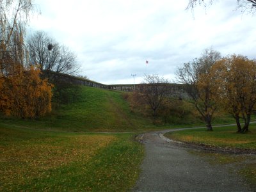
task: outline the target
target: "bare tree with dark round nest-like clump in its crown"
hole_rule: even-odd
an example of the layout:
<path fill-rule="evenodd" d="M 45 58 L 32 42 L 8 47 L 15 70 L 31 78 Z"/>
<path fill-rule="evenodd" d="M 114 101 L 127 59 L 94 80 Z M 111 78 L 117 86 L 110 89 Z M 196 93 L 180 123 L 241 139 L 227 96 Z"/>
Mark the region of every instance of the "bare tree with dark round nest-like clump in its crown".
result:
<path fill-rule="evenodd" d="M 37 31 L 28 38 L 30 65 L 40 65 L 44 77 L 54 81 L 55 73 L 74 74 L 78 69 L 76 55 L 58 44 L 44 31 Z M 52 73 L 53 72 L 53 73 Z"/>

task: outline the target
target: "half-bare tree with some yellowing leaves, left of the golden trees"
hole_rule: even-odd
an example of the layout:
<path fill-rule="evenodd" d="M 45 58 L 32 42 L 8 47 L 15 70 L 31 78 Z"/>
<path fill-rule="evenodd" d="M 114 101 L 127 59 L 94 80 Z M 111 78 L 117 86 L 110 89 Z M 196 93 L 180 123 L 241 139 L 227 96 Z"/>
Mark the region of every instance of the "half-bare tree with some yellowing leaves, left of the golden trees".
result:
<path fill-rule="evenodd" d="M 220 52 L 205 49 L 200 58 L 184 63 L 184 66 L 177 70 L 180 83 L 186 84 L 186 92 L 204 119 L 208 131 L 212 131 L 211 121 L 217 109 L 215 97 L 218 90 L 214 83 L 216 77 L 212 75 L 211 67 L 220 58 Z"/>

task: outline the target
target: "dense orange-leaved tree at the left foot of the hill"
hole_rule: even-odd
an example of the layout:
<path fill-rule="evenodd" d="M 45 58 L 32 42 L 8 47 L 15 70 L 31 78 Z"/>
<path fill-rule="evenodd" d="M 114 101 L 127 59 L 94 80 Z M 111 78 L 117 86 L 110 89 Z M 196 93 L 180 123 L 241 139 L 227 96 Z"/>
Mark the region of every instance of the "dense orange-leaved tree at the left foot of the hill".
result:
<path fill-rule="evenodd" d="M 38 68 L 17 65 L 15 74 L 0 79 L 0 110 L 5 115 L 31 118 L 51 111 L 52 86 L 40 79 Z"/>

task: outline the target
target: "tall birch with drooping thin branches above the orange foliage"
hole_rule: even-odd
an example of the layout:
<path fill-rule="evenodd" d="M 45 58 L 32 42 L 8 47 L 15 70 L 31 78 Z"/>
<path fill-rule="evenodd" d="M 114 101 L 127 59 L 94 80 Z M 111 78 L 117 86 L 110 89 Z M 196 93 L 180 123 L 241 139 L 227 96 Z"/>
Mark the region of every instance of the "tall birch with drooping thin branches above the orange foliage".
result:
<path fill-rule="evenodd" d="M 0 78 L 24 64 L 24 33 L 34 6 L 31 0 L 0 0 Z"/>

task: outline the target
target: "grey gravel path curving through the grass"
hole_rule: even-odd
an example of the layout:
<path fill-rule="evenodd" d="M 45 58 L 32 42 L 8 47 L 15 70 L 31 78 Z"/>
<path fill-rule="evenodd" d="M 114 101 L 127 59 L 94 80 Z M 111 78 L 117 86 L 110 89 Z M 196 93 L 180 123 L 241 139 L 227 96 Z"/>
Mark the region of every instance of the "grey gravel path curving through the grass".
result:
<path fill-rule="evenodd" d="M 227 166 L 209 164 L 188 148 L 168 143 L 161 136 L 168 131 L 143 135 L 146 156 L 132 191 L 255 191 Z"/>

